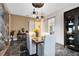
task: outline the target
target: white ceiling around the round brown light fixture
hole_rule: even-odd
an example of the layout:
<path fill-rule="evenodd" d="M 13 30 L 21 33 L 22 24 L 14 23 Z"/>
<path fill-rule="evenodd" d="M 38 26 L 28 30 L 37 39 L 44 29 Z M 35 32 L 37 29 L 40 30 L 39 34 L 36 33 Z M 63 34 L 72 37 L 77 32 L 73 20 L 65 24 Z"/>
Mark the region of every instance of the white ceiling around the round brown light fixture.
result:
<path fill-rule="evenodd" d="M 39 8 L 37 10 L 40 14 L 48 16 L 59 9 L 76 4 L 77 3 L 45 3 L 42 8 Z M 32 3 L 7 3 L 6 5 L 11 14 L 22 15 L 22 16 L 31 17 L 34 9 Z"/>

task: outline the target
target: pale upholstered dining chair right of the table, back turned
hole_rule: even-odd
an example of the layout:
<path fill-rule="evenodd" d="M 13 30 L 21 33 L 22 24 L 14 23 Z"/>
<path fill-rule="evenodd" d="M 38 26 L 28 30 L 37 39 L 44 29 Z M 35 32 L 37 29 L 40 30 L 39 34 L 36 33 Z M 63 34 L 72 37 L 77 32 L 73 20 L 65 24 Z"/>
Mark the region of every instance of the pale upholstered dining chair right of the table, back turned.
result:
<path fill-rule="evenodd" d="M 45 35 L 44 43 L 39 45 L 38 55 L 55 56 L 55 39 L 54 35 Z"/>

